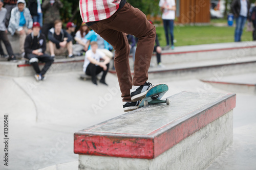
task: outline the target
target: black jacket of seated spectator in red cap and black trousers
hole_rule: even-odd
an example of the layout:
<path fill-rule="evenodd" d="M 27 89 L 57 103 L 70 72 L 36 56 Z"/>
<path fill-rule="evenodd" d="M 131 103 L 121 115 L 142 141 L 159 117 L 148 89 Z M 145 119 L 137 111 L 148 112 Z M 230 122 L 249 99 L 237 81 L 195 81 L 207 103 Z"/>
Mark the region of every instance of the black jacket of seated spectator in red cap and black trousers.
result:
<path fill-rule="evenodd" d="M 25 58 L 28 54 L 31 54 L 33 50 L 38 50 L 38 49 L 41 49 L 41 52 L 45 53 L 46 51 L 45 35 L 39 34 L 37 37 L 34 37 L 33 33 L 27 35 L 24 43 Z"/>

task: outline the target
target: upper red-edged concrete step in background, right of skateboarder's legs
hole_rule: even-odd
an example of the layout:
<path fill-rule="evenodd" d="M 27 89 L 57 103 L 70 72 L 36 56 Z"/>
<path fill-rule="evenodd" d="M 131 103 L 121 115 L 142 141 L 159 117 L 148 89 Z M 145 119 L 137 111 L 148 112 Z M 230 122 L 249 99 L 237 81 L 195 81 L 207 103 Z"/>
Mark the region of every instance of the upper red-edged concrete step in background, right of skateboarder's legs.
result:
<path fill-rule="evenodd" d="M 254 41 L 178 46 L 175 50 L 163 50 L 161 62 L 164 65 L 170 65 L 250 56 L 256 56 Z M 133 68 L 133 58 L 130 57 L 129 61 L 130 67 Z M 151 63 L 157 65 L 155 54 L 152 56 Z"/>

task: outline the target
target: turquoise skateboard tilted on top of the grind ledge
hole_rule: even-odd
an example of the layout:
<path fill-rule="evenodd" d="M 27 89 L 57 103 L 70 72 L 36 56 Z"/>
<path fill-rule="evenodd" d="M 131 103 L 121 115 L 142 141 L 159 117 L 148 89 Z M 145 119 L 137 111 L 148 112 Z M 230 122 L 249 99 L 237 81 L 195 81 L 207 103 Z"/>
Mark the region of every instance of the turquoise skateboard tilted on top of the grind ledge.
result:
<path fill-rule="evenodd" d="M 161 100 L 166 91 L 168 91 L 168 86 L 166 84 L 159 84 L 152 87 L 150 90 L 147 91 L 145 98 L 141 100 L 138 108 L 159 103 L 166 103 L 167 105 L 169 105 L 170 100 L 168 98 L 165 100 Z"/>

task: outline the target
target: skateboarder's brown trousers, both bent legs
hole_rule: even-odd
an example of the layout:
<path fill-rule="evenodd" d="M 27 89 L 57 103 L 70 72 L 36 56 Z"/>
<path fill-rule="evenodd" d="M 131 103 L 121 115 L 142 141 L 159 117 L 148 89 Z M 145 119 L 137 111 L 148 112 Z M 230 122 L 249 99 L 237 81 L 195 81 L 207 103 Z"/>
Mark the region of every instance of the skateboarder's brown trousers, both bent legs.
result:
<path fill-rule="evenodd" d="M 132 85 L 140 86 L 148 79 L 148 68 L 155 44 L 156 29 L 137 8 L 126 3 L 108 19 L 90 26 L 115 49 L 115 69 L 122 92 L 123 102 L 130 102 Z M 139 38 L 135 54 L 134 79 L 129 66 L 129 43 L 124 33 Z"/>

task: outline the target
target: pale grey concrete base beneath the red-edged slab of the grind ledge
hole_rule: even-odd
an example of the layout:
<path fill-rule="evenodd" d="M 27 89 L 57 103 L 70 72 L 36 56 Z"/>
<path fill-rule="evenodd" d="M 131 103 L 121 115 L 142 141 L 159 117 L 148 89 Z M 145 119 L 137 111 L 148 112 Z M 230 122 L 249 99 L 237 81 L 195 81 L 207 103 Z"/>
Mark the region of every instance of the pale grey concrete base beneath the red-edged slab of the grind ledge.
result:
<path fill-rule="evenodd" d="M 232 128 L 232 111 L 229 111 L 155 159 L 120 157 L 113 159 L 112 157 L 79 155 L 79 169 L 204 169 L 232 143 Z"/>

